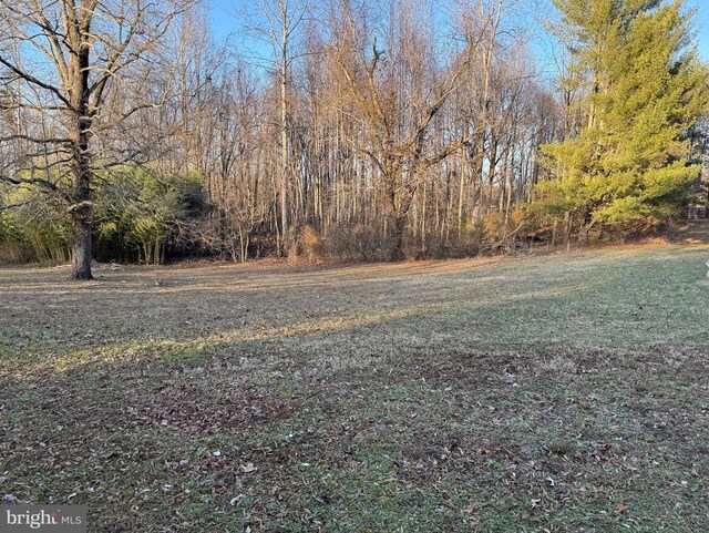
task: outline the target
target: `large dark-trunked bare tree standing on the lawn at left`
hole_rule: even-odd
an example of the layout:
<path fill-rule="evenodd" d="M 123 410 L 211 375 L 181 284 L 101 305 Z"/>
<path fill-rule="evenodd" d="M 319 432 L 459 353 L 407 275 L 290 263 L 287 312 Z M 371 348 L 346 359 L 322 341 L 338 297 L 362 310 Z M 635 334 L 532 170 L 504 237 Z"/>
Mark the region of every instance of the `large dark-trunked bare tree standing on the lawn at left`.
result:
<path fill-rule="evenodd" d="M 21 96 L 2 111 L 23 110 L 35 124 L 48 125 L 0 139 L 32 146 L 6 165 L 0 178 L 42 187 L 66 202 L 74 230 L 74 279 L 92 278 L 91 198 L 96 167 L 121 163 L 100 161 L 92 141 L 154 103 L 127 101 L 122 109 L 109 111 L 110 86 L 124 83 L 134 63 L 154 54 L 179 11 L 177 3 L 150 0 L 0 1 L 2 79 L 6 86 L 21 88 Z"/>

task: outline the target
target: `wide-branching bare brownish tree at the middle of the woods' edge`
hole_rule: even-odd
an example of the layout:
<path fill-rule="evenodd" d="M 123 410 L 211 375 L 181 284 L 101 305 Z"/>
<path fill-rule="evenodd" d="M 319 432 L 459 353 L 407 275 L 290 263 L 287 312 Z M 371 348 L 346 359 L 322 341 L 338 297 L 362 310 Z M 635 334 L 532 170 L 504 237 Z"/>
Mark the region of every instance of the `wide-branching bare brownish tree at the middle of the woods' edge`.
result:
<path fill-rule="evenodd" d="M 333 54 L 341 90 L 368 133 L 366 140 L 350 142 L 381 175 L 393 223 L 391 260 L 403 258 L 404 228 L 424 177 L 472 135 L 451 122 L 445 133 L 440 131 L 432 139 L 435 119 L 470 69 L 471 47 L 466 44 L 441 65 L 425 7 L 421 8 L 404 1 L 392 4 L 386 49 L 378 45 L 376 35 L 370 41 L 352 18 L 345 20 Z M 424 14 L 417 17 L 417 12 Z"/>

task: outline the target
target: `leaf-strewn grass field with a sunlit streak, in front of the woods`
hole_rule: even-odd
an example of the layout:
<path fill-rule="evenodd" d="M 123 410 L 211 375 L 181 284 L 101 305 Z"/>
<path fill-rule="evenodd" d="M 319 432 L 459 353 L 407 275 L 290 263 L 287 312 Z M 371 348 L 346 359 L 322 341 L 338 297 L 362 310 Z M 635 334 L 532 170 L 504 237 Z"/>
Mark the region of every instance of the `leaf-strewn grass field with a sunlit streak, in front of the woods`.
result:
<path fill-rule="evenodd" d="M 0 498 L 110 533 L 709 531 L 708 258 L 0 270 Z"/>

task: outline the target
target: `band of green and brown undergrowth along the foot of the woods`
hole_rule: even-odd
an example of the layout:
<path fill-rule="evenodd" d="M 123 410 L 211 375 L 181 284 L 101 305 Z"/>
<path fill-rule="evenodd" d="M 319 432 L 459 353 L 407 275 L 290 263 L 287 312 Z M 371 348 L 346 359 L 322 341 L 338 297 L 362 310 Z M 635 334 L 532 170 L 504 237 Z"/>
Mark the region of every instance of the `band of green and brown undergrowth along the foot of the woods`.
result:
<path fill-rule="evenodd" d="M 105 174 L 93 192 L 93 257 L 101 263 L 164 264 L 171 259 L 208 257 L 243 262 L 276 256 L 273 235 L 255 225 L 245 230 L 238 219 L 208 202 L 198 176 L 160 176 L 144 168 Z M 70 260 L 72 245 L 68 206 L 59 197 L 32 187 L 0 188 L 0 263 L 60 264 Z M 408 258 L 465 257 L 499 254 L 532 246 L 561 244 L 551 229 L 554 219 L 536 208 L 517 207 L 510 216 L 489 213 L 467 221 L 450 235 L 404 232 Z M 291 263 L 327 258 L 387 260 L 395 246 L 391 225 L 340 225 L 327 232 L 312 225 L 292 226 L 285 239 Z"/>

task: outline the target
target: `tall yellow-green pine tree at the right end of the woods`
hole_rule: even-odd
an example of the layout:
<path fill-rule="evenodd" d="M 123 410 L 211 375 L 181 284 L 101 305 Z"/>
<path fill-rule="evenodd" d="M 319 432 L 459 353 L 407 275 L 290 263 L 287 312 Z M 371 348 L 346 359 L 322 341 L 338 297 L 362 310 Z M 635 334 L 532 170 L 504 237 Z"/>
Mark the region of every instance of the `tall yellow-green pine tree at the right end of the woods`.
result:
<path fill-rule="evenodd" d="M 596 223 L 656 224 L 699 176 L 687 132 L 709 107 L 707 65 L 690 45 L 684 1 L 555 0 L 586 86 L 586 121 L 543 146 L 556 180 L 543 206 L 568 232 Z"/>

